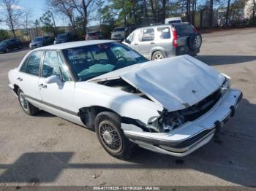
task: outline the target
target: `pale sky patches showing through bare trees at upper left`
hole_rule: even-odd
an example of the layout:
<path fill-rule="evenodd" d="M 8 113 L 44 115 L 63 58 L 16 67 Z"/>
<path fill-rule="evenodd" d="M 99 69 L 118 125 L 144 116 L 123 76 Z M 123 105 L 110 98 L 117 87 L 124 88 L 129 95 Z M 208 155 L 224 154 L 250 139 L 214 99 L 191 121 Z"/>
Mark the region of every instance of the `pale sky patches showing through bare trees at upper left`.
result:
<path fill-rule="evenodd" d="M 31 20 L 39 20 L 39 17 L 42 16 L 44 12 L 47 11 L 47 5 L 45 0 L 18 0 L 18 6 L 21 9 L 31 9 L 32 10 L 32 17 Z M 1 10 L 0 10 L 1 11 Z M 65 22 L 66 21 L 66 22 Z M 61 16 L 55 17 L 56 26 L 67 26 L 67 20 L 64 20 Z M 94 25 L 97 23 L 91 23 Z M 2 29 L 9 29 L 4 23 L 0 23 L 0 28 Z"/>

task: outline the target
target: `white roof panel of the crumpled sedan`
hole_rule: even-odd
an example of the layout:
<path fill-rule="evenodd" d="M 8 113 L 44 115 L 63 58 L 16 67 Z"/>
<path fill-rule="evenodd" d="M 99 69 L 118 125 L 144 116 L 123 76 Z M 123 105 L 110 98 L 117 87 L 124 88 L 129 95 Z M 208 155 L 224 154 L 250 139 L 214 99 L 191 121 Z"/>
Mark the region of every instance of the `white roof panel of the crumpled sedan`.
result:
<path fill-rule="evenodd" d="M 94 44 L 102 44 L 102 43 L 108 43 L 108 42 L 116 42 L 113 40 L 89 40 L 89 41 L 77 41 L 77 42 L 66 42 L 66 43 L 61 43 L 61 44 L 53 44 L 45 47 L 39 47 L 35 50 L 63 50 L 67 48 L 72 48 L 72 47 L 84 47 L 84 46 L 89 46 L 89 45 L 94 45 Z"/>

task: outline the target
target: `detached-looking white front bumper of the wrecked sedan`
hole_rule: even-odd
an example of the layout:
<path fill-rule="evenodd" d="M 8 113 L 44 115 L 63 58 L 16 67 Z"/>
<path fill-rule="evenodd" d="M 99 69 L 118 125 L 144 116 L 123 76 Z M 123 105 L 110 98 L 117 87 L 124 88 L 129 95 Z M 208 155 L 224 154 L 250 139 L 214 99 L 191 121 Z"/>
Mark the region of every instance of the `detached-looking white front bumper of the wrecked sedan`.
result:
<path fill-rule="evenodd" d="M 242 97 L 240 90 L 230 89 L 206 114 L 168 133 L 149 133 L 123 128 L 124 134 L 145 149 L 183 157 L 211 140 L 214 133 L 219 131 L 230 117 L 233 117 Z"/>

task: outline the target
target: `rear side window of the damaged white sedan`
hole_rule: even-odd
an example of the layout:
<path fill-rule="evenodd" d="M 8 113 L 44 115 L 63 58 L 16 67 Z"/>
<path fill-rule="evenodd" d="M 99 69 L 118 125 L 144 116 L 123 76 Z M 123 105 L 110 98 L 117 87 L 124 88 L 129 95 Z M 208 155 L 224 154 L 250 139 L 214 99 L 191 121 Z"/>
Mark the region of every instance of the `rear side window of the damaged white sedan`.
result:
<path fill-rule="evenodd" d="M 25 72 L 28 74 L 39 76 L 40 62 L 42 58 L 42 51 L 32 52 L 26 63 Z"/>

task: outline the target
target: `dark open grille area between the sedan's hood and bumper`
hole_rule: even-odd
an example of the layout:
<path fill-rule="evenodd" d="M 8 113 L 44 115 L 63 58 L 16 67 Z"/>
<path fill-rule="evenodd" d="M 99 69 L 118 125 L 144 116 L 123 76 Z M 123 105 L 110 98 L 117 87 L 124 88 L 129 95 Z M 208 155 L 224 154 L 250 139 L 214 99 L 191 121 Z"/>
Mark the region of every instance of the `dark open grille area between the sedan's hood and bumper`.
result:
<path fill-rule="evenodd" d="M 184 116 L 184 120 L 186 122 L 193 121 L 203 114 L 206 114 L 206 112 L 208 112 L 217 103 L 217 101 L 219 101 L 220 97 L 221 92 L 220 89 L 218 89 L 214 93 L 211 93 L 211 95 L 208 95 L 202 101 L 199 101 L 197 104 L 189 106 L 186 109 L 182 109 L 179 112 Z"/>

